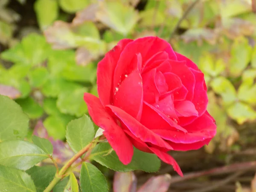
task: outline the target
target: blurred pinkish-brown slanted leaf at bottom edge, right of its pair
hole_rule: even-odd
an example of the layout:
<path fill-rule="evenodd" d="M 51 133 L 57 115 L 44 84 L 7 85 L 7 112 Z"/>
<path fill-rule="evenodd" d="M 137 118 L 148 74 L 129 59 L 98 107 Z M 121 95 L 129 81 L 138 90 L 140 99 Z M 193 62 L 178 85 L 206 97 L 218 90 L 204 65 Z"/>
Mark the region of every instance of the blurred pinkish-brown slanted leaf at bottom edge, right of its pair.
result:
<path fill-rule="evenodd" d="M 171 182 L 171 175 L 151 177 L 137 192 L 167 192 Z"/>

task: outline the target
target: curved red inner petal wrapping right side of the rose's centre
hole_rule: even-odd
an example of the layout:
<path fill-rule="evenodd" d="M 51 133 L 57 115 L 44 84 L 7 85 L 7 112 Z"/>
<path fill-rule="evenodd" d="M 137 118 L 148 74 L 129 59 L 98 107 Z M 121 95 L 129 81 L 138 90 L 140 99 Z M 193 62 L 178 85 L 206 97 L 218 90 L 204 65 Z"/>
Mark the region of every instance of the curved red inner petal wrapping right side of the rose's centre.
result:
<path fill-rule="evenodd" d="M 176 61 L 171 64 L 172 64 L 172 73 L 180 77 L 182 84 L 188 90 L 188 93 L 186 95 L 186 100 L 191 101 L 194 96 L 194 88 L 195 88 L 194 74 L 191 72 L 189 67 L 186 66 L 185 61 L 179 61 L 179 64 L 177 64 L 177 61 Z"/>

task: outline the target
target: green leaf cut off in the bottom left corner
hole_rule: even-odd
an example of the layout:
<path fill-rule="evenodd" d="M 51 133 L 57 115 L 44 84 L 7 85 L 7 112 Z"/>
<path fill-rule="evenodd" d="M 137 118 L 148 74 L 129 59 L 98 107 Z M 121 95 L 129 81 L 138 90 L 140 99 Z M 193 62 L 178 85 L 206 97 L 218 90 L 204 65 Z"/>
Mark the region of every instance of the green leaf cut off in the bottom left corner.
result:
<path fill-rule="evenodd" d="M 1 192 L 37 192 L 31 177 L 18 169 L 0 165 Z"/>

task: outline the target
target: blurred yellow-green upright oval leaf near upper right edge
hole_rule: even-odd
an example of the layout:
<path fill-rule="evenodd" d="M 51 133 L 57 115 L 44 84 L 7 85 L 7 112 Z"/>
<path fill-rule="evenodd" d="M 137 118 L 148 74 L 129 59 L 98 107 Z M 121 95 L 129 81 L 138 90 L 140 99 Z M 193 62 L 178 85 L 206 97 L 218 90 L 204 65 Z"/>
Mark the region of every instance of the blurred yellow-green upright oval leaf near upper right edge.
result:
<path fill-rule="evenodd" d="M 229 71 L 232 76 L 239 76 L 251 59 L 252 47 L 246 38 L 237 38 L 231 47 Z"/>

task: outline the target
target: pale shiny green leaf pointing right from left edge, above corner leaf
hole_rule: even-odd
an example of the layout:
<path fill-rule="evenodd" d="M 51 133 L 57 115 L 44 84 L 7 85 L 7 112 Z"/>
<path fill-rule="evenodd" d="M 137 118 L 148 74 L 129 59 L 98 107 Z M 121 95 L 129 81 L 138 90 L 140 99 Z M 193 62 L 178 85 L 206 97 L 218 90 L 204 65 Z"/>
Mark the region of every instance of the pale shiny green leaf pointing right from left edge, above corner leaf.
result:
<path fill-rule="evenodd" d="M 12 140 L 0 143 L 0 164 L 4 166 L 27 170 L 47 158 L 41 148 L 27 141 Z"/>

